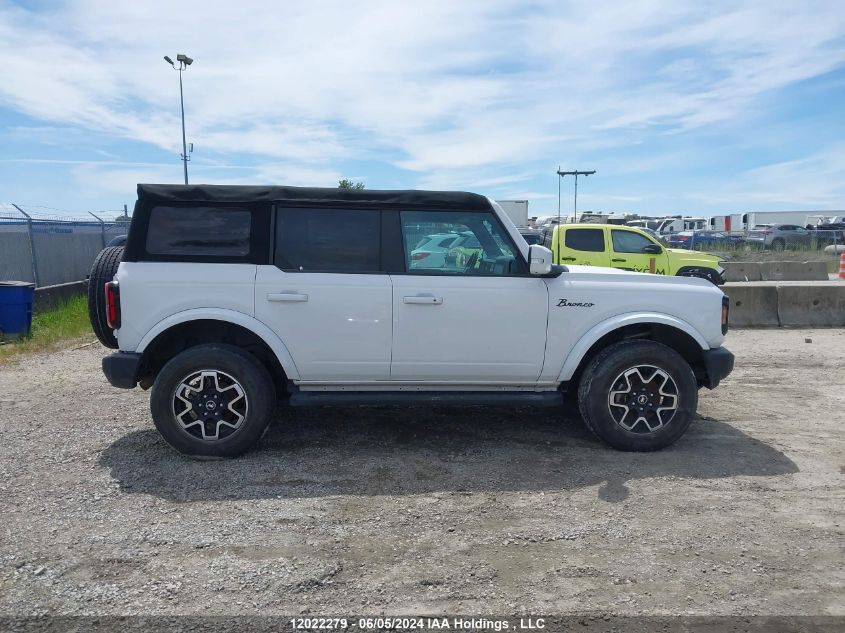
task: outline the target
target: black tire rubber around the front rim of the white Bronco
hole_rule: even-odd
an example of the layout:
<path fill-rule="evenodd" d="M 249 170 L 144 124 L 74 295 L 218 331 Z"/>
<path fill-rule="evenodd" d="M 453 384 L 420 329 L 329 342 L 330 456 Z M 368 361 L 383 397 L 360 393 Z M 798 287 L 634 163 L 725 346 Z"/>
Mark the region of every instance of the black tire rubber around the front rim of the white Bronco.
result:
<path fill-rule="evenodd" d="M 608 400 L 620 374 L 646 365 L 672 378 L 677 386 L 677 409 L 661 428 L 636 433 L 614 420 Z M 656 451 L 673 444 L 686 432 L 697 406 L 698 386 L 689 363 L 671 347 L 654 341 L 628 340 L 608 346 L 590 361 L 578 385 L 578 408 L 587 428 L 621 451 Z"/>

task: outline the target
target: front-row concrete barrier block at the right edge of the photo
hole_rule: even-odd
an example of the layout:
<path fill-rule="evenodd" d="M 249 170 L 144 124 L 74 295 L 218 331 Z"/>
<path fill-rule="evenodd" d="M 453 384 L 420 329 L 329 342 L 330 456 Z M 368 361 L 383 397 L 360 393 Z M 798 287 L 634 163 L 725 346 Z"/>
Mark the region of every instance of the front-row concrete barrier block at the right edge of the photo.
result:
<path fill-rule="evenodd" d="M 781 325 L 845 327 L 845 285 L 777 286 Z"/>

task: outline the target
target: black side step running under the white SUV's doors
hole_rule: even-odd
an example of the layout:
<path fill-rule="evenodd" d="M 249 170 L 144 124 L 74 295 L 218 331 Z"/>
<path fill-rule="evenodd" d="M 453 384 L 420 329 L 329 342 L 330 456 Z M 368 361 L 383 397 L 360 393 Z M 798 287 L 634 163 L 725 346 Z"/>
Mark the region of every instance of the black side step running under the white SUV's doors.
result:
<path fill-rule="evenodd" d="M 288 404 L 292 407 L 409 404 L 557 407 L 563 404 L 563 394 L 559 391 L 295 391 Z"/>

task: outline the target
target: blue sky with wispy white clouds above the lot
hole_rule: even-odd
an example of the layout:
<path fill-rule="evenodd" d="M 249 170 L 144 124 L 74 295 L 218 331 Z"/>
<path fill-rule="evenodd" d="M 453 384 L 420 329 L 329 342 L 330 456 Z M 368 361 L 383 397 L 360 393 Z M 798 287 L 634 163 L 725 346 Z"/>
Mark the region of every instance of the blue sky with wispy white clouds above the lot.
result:
<path fill-rule="evenodd" d="M 845 4 L 0 0 L 0 202 L 459 189 L 531 215 L 845 209 Z"/>

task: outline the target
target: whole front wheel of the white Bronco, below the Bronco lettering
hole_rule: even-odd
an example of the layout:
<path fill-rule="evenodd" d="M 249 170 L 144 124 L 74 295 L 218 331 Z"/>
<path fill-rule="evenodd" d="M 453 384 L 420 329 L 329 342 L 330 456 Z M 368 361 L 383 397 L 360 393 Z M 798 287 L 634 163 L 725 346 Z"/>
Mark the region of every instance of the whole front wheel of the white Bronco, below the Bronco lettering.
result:
<path fill-rule="evenodd" d="M 603 349 L 578 387 L 587 428 L 623 451 L 655 451 L 674 443 L 697 406 L 689 363 L 654 341 L 622 341 Z"/>

